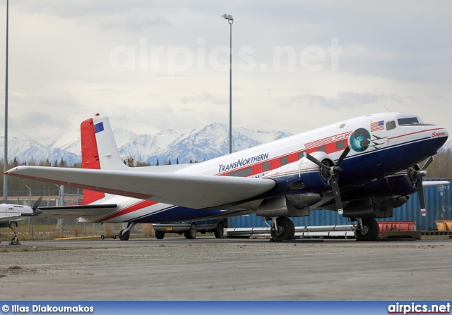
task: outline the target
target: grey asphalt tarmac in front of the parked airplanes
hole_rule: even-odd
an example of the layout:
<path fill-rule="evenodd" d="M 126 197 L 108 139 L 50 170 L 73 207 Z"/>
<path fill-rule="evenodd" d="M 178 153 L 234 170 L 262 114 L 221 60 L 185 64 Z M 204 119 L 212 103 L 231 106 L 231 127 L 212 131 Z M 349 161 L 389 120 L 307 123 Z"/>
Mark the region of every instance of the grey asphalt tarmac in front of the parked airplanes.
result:
<path fill-rule="evenodd" d="M 3 300 L 451 300 L 452 240 L 1 242 Z"/>

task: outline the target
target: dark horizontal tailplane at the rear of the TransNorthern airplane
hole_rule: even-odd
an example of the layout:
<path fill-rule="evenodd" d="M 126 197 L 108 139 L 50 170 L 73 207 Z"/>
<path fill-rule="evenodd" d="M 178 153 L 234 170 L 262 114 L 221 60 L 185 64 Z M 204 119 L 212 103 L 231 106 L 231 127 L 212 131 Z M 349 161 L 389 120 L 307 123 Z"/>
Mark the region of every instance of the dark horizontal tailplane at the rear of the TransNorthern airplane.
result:
<path fill-rule="evenodd" d="M 117 204 L 88 204 L 85 206 L 40 206 L 40 218 L 80 218 L 102 216 L 117 208 Z"/>

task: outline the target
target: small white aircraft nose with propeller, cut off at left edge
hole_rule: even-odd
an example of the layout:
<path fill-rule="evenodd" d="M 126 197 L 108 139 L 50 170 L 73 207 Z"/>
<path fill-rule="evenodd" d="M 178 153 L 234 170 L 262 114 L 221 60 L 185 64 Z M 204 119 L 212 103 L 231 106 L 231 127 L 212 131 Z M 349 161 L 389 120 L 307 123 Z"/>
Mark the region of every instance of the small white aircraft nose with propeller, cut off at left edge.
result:
<path fill-rule="evenodd" d="M 20 204 L 0 204 L 0 228 L 11 228 L 14 232 L 14 237 L 11 240 L 11 245 L 18 245 L 19 239 L 17 236 L 17 223 L 18 221 L 30 218 L 30 216 L 39 216 L 42 214 L 37 207 L 40 205 L 42 197 L 37 199 L 35 205 L 22 206 Z"/>

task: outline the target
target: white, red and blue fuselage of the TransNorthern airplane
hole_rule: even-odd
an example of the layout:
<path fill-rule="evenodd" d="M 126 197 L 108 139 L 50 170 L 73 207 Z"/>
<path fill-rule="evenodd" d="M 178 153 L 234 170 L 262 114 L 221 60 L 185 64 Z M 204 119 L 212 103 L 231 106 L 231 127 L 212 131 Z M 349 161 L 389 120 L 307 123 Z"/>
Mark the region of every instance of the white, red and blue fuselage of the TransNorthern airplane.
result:
<path fill-rule="evenodd" d="M 385 176 L 406 170 L 436 154 L 447 137 L 447 130 L 424 124 L 420 117 L 413 114 L 379 113 L 334 123 L 202 163 L 172 167 L 177 168 L 175 173 L 180 174 L 271 178 L 276 183 L 275 188 L 261 196 L 262 199 L 304 193 L 302 185 L 295 187 L 295 190 L 287 185 L 297 180 L 309 185 L 316 183 L 316 180 L 318 185 L 309 191 L 323 193 L 331 192 L 331 186 L 328 181 L 319 180 L 319 167 L 307 163 L 303 159 L 304 152 L 326 156 L 326 159 L 335 162 L 344 149 L 350 147 L 350 154 L 341 163 L 342 171 L 338 175 L 338 183 L 347 200 L 352 196 L 350 193 L 347 197 L 347 187 L 368 182 L 378 184 Z M 130 168 L 130 171 L 153 172 L 157 168 Z M 415 192 L 413 187 L 404 189 L 403 194 Z M 103 202 L 117 203 L 120 210 L 106 216 L 82 218 L 81 221 L 156 223 L 225 214 L 219 209 L 190 209 L 111 195 Z M 311 207 L 311 210 L 314 209 L 319 208 Z"/>

